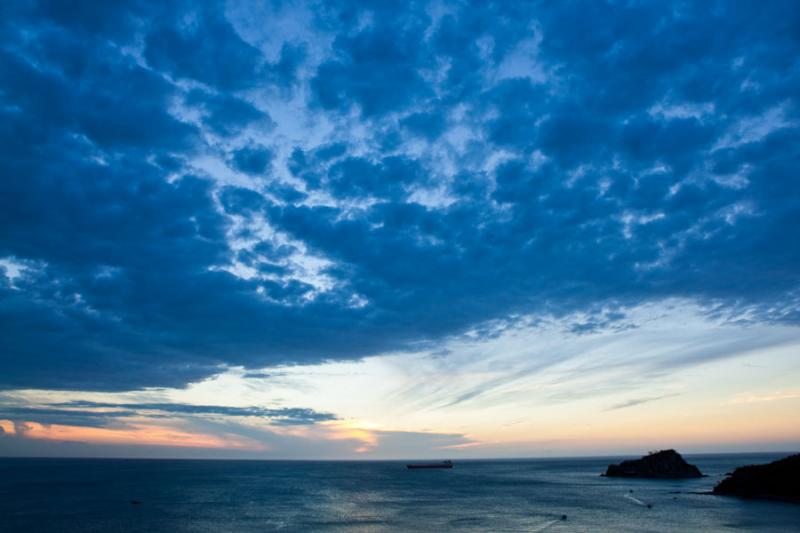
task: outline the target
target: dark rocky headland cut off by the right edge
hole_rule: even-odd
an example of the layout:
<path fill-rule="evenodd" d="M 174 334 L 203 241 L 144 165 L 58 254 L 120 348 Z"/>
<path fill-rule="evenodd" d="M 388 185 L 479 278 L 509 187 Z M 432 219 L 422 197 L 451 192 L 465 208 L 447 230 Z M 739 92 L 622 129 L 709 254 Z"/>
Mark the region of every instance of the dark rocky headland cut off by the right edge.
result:
<path fill-rule="evenodd" d="M 714 487 L 714 494 L 800 503 L 800 454 L 740 466 Z"/>

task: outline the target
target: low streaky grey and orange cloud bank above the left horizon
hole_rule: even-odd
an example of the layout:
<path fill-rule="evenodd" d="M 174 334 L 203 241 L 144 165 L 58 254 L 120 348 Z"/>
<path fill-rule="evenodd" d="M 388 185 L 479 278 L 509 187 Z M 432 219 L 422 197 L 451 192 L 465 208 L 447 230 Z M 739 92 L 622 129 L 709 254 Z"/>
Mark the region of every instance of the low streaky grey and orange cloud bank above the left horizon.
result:
<path fill-rule="evenodd" d="M 365 429 L 307 408 L 86 400 L 29 407 L 9 398 L 0 406 L 0 451 L 14 456 L 397 458 L 477 444 L 458 433 Z"/>

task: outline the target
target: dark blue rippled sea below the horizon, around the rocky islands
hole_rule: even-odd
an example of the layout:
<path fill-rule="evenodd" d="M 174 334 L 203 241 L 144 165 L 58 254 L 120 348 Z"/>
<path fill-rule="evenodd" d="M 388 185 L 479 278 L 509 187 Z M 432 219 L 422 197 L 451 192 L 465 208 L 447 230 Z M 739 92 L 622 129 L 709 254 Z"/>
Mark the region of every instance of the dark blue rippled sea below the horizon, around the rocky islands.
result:
<path fill-rule="evenodd" d="M 0 531 L 800 532 L 800 505 L 708 494 L 785 454 L 687 455 L 707 477 L 601 477 L 630 457 L 456 461 L 0 459 Z"/>

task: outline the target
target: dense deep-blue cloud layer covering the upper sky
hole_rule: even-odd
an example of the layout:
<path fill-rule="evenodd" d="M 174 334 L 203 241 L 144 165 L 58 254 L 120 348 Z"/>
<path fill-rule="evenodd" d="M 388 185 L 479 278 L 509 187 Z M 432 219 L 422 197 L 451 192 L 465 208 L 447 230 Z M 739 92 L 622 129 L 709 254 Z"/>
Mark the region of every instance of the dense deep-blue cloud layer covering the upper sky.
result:
<path fill-rule="evenodd" d="M 800 322 L 791 2 L 227 7 L 0 8 L 0 387 Z"/>

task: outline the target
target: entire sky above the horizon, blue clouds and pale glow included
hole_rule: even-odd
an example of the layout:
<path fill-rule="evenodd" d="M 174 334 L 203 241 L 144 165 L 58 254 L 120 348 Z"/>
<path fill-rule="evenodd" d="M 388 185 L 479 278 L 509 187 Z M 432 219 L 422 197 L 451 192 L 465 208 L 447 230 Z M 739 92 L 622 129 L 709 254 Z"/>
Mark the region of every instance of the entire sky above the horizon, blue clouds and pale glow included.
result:
<path fill-rule="evenodd" d="M 0 456 L 800 449 L 796 2 L 3 2 Z"/>

